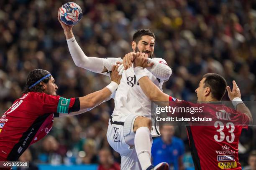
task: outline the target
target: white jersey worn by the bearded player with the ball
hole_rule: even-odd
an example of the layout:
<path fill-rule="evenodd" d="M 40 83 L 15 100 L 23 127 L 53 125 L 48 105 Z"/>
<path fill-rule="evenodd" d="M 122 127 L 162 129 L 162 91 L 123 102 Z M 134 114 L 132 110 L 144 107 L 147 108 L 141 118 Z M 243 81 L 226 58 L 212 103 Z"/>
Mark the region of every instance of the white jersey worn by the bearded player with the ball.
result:
<path fill-rule="evenodd" d="M 166 63 L 166 61 L 162 58 L 153 58 L 153 59 L 158 62 Z M 106 60 L 104 61 L 105 62 L 104 65 L 108 70 L 111 70 L 113 64 L 120 60 L 121 60 L 120 58 L 106 58 Z M 158 79 L 146 68 L 144 68 L 144 70 L 147 76 L 149 77 L 149 79 L 152 82 L 154 82 L 154 84 L 157 87 L 159 87 L 161 91 L 163 91 L 162 86 L 163 86 L 164 80 Z M 103 74 L 106 74 L 106 73 L 103 73 Z M 133 70 L 133 66 L 123 71 L 122 78 L 120 80 L 120 85 L 118 86 L 118 89 L 115 92 L 115 96 L 114 97 L 112 96 L 112 98 L 114 98 L 115 100 L 115 109 L 113 110 L 113 114 L 112 114 L 113 116 L 124 116 L 124 115 L 135 114 L 135 115 L 143 115 L 145 117 L 151 117 L 151 101 L 148 99 L 148 97 L 144 94 L 143 90 L 139 86 L 138 79 L 136 78 L 136 75 Z M 152 106 L 152 108 L 153 107 L 156 107 L 155 104 Z M 154 126 L 154 124 L 155 124 L 155 121 L 153 120 L 152 125 Z M 152 130 L 155 128 L 156 126 L 154 126 L 154 128 L 152 127 Z M 151 134 L 152 134 L 152 130 L 151 130 Z M 160 133 L 153 132 L 152 135 L 158 136 L 160 135 Z"/>

